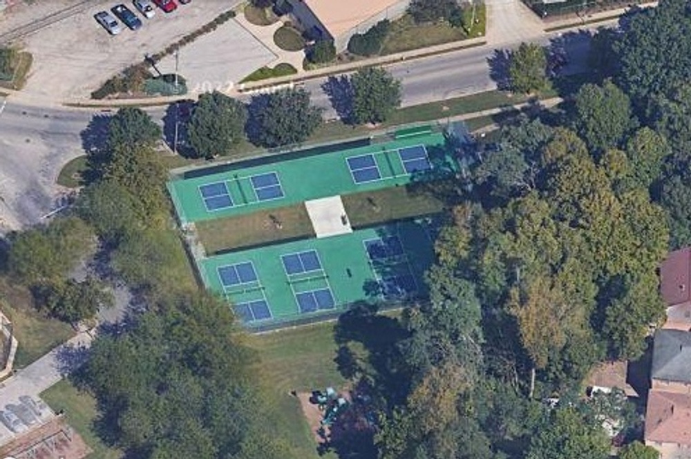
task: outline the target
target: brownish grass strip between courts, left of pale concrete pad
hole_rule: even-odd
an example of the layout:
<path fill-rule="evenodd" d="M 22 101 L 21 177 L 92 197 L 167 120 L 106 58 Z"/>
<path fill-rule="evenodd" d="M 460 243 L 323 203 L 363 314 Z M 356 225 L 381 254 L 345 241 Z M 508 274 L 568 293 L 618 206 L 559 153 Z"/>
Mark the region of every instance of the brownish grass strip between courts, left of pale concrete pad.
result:
<path fill-rule="evenodd" d="M 272 216 L 281 223 L 280 229 Z M 237 217 L 205 220 L 195 225 L 207 255 L 229 248 L 314 236 L 310 216 L 302 203 Z"/>

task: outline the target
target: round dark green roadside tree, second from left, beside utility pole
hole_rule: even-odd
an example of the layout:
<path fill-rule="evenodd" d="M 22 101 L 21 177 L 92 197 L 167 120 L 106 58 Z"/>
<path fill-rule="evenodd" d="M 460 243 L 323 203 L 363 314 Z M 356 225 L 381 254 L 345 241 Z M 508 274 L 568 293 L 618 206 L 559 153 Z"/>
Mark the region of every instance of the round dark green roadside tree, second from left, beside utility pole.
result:
<path fill-rule="evenodd" d="M 245 105 L 214 91 L 200 95 L 189 121 L 189 143 L 198 157 L 228 155 L 243 139 Z"/>

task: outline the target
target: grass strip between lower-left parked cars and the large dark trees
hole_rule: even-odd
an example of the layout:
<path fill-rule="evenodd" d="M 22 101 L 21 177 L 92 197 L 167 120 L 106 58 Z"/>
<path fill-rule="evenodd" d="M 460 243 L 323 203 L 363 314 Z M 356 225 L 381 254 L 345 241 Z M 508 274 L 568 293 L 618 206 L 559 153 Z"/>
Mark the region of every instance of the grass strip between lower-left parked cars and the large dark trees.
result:
<path fill-rule="evenodd" d="M 65 411 L 68 424 L 93 449 L 87 459 L 120 459 L 124 456 L 122 451 L 106 446 L 96 435 L 93 429 L 93 422 L 97 418 L 96 400 L 89 393 L 79 391 L 68 380 L 62 380 L 41 393 L 41 398 L 53 410 Z"/>

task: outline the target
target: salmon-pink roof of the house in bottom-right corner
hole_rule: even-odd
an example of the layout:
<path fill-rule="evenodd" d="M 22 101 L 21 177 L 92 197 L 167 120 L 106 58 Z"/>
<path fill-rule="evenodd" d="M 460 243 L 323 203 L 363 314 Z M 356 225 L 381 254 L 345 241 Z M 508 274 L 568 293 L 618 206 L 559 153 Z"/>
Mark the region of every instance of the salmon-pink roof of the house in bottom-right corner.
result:
<path fill-rule="evenodd" d="M 691 445 L 691 395 L 650 391 L 645 411 L 645 440 Z"/>

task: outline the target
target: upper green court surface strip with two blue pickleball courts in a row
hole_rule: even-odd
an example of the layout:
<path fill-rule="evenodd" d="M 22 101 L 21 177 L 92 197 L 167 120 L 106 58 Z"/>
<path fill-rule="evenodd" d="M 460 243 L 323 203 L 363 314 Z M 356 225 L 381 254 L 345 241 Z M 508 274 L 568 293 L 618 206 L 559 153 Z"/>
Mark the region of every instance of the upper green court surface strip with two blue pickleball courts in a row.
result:
<path fill-rule="evenodd" d="M 442 133 L 401 133 L 381 143 L 363 139 L 330 146 L 328 152 L 307 150 L 192 170 L 173 178 L 168 188 L 180 222 L 187 224 L 401 186 L 456 170 Z"/>

